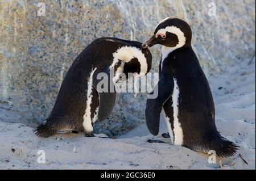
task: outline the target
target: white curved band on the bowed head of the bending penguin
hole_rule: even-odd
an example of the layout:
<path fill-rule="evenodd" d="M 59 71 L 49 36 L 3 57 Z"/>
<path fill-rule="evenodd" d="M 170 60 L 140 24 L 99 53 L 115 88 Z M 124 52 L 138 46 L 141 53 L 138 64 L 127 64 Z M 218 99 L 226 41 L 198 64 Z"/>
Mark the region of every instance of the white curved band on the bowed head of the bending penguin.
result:
<path fill-rule="evenodd" d="M 114 68 L 115 64 L 118 63 L 118 60 L 129 62 L 133 58 L 137 58 L 139 63 L 141 64 L 141 73 L 143 76 L 147 73 L 147 60 L 144 54 L 141 52 L 141 49 L 136 47 L 121 47 L 115 53 L 113 53 L 113 63 L 110 65 L 110 68 Z"/>

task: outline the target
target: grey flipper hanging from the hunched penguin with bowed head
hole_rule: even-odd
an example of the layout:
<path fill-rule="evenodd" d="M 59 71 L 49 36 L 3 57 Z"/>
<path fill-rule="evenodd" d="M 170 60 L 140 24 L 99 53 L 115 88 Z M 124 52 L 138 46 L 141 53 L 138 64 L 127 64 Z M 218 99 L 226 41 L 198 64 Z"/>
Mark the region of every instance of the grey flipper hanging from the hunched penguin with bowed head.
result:
<path fill-rule="evenodd" d="M 97 69 L 94 72 L 93 87 L 97 90 L 100 99 L 98 121 L 103 121 L 107 119 L 112 112 L 116 97 L 114 83 L 112 77 L 110 77 L 109 65 L 106 65 L 102 69 Z"/>

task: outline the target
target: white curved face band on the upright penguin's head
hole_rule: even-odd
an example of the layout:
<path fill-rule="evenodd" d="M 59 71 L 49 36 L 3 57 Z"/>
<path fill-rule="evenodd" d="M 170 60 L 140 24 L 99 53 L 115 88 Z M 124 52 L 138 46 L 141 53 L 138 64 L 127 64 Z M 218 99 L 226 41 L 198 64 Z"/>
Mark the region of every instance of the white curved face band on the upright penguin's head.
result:
<path fill-rule="evenodd" d="M 170 32 L 170 33 L 174 33 L 175 35 L 177 35 L 179 43 L 176 45 L 176 47 L 167 47 L 167 49 L 170 50 L 170 52 L 172 52 L 173 50 L 183 47 L 183 45 L 185 45 L 186 43 L 186 37 L 184 35 L 184 33 L 180 30 L 180 28 L 177 28 L 175 26 L 169 26 L 166 28 L 162 28 L 160 30 L 158 30 L 158 32 L 156 32 L 156 35 L 158 33 L 163 33 L 164 35 L 166 35 L 166 32 Z"/>

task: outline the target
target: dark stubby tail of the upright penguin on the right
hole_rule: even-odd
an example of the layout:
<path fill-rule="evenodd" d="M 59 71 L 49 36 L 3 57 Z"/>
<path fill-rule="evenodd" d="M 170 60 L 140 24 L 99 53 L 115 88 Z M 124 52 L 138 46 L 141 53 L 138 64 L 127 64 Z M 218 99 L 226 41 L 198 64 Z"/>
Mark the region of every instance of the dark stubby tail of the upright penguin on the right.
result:
<path fill-rule="evenodd" d="M 213 145 L 210 146 L 211 150 L 214 150 L 218 157 L 232 157 L 236 155 L 239 149 L 238 145 L 222 137 L 220 134 L 218 135 L 216 141 L 213 141 L 212 144 Z"/>

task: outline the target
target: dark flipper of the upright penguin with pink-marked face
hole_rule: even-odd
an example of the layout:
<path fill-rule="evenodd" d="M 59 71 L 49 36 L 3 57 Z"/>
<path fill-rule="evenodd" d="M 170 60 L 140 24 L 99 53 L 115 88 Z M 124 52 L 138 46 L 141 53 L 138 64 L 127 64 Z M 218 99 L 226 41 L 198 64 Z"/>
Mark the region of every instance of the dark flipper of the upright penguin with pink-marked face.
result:
<path fill-rule="evenodd" d="M 163 108 L 163 104 L 168 100 L 174 89 L 174 81 L 171 77 L 165 77 L 161 75 L 158 85 L 154 87 L 154 91 L 150 95 L 156 94 L 156 98 L 147 98 L 145 116 L 147 128 L 154 136 L 159 133 L 160 113 Z M 157 91 L 157 92 L 156 92 Z"/>

